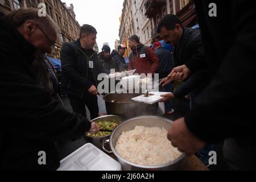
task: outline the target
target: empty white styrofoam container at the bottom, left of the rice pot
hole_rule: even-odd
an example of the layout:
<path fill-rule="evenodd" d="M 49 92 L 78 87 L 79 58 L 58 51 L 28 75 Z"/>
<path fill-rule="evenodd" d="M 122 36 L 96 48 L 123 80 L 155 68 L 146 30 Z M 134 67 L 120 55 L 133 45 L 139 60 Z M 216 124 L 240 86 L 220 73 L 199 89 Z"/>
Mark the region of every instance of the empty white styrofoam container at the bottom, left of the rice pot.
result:
<path fill-rule="evenodd" d="M 57 171 L 122 171 L 122 168 L 120 163 L 92 143 L 86 143 L 61 160 Z"/>

